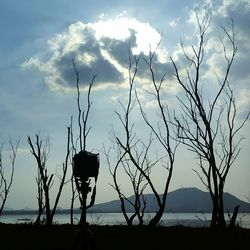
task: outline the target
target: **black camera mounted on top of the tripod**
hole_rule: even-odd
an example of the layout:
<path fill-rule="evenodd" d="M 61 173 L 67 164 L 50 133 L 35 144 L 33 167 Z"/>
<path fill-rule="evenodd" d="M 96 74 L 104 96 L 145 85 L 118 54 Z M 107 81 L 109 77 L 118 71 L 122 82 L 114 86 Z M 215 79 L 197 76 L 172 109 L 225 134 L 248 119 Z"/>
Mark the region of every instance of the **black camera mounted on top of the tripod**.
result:
<path fill-rule="evenodd" d="M 99 154 L 93 154 L 87 151 L 80 151 L 73 157 L 73 173 L 75 177 L 81 180 L 87 180 L 90 177 L 97 178 L 99 173 Z"/>

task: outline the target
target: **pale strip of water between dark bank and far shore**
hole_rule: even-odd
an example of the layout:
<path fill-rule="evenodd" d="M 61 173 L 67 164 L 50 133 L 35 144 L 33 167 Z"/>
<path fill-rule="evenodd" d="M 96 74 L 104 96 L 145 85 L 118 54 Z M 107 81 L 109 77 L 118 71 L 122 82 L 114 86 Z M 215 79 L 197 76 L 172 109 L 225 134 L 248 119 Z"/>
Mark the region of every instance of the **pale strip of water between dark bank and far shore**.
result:
<path fill-rule="evenodd" d="M 129 215 L 129 214 L 128 214 Z M 144 221 L 147 223 L 154 214 L 146 213 Z M 229 218 L 225 214 L 225 218 Z M 2 215 L 0 223 L 33 223 L 36 215 L 18 214 L 18 215 Z M 80 214 L 74 214 L 74 224 L 77 224 Z M 211 220 L 211 213 L 164 213 L 160 221 L 161 226 L 177 226 L 183 225 L 187 227 L 208 227 Z M 87 221 L 95 225 L 126 225 L 126 221 L 122 213 L 88 213 Z M 69 224 L 70 214 L 56 214 L 54 224 Z M 236 222 L 243 228 L 250 229 L 250 213 L 239 213 Z M 136 221 L 135 221 L 136 224 Z"/>

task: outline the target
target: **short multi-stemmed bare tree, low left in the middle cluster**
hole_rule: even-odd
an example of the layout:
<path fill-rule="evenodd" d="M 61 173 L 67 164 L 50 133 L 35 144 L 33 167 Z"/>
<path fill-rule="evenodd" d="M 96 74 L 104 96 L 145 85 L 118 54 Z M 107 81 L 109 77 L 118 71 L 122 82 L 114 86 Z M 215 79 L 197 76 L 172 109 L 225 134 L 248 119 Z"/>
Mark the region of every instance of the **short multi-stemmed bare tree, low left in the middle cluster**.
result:
<path fill-rule="evenodd" d="M 142 166 L 143 170 L 147 171 L 148 174 L 151 168 L 149 161 L 147 161 L 147 148 L 149 147 L 150 144 L 147 145 L 147 147 L 143 147 L 144 150 L 137 150 L 136 154 L 137 162 L 140 162 L 140 165 Z M 142 173 L 133 165 L 129 157 L 126 156 L 126 152 L 121 151 L 117 143 L 113 147 L 110 147 L 109 150 L 106 150 L 104 146 L 103 149 L 107 164 L 109 166 L 109 172 L 113 178 L 113 184 L 110 185 L 117 192 L 118 197 L 121 201 L 121 210 L 127 222 L 127 225 L 132 226 L 134 224 L 135 218 L 138 219 L 139 225 L 143 225 L 145 209 L 147 206 L 147 201 L 144 196 L 144 191 L 147 187 L 147 182 L 145 181 L 145 178 L 143 177 Z M 112 167 L 112 163 L 110 161 L 111 151 L 114 151 L 114 153 L 116 153 L 114 167 Z M 121 171 L 123 171 L 128 177 L 128 181 L 132 186 L 132 191 L 134 195 L 133 197 L 129 198 L 122 192 L 118 177 L 119 168 L 121 168 Z M 128 186 L 128 184 L 126 186 Z M 128 206 L 130 206 L 131 209 L 129 209 Z"/>

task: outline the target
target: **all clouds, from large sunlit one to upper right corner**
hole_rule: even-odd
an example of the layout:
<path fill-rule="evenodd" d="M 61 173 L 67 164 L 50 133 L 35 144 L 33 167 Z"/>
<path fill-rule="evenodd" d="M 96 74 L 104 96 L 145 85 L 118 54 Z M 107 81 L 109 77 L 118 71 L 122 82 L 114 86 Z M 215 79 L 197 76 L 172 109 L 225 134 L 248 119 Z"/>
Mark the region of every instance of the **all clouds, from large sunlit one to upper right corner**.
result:
<path fill-rule="evenodd" d="M 219 36 L 223 34 L 220 25 L 230 27 L 230 18 L 233 17 L 238 52 L 230 72 L 230 81 L 235 87 L 247 89 L 246 79 L 250 77 L 247 68 L 250 59 L 246 53 L 250 49 L 250 30 L 247 29 L 250 21 L 250 4 L 247 1 L 214 2 L 211 0 L 204 3 L 212 8 L 213 19 L 207 33 L 207 54 L 202 69 L 202 80 L 215 86 L 218 83 L 217 76 L 223 76 L 225 60 L 222 47 L 219 46 Z M 191 45 L 195 46 L 197 43 L 194 11 L 189 11 L 186 22 L 181 22 L 179 17 L 172 20 L 171 32 L 175 25 L 178 25 L 177 31 L 183 31 L 184 27 L 185 31 L 179 35 L 183 39 L 185 51 L 192 53 Z M 107 19 L 107 16 L 102 15 L 97 22 L 71 24 L 67 30 L 56 34 L 48 41 L 48 46 L 42 55 L 34 55 L 22 66 L 42 73 L 50 90 L 65 91 L 75 88 L 72 65 L 72 59 L 74 59 L 80 72 L 82 88 L 86 87 L 92 76 L 96 74 L 95 88 L 119 90 L 128 83 L 129 48 L 134 55 L 142 53 L 146 60 L 149 59 L 149 50 L 155 51 L 157 48 L 153 61 L 155 79 L 159 81 L 166 73 L 167 84 L 163 85 L 164 90 L 169 95 L 176 95 L 180 91 L 180 86 L 173 79 L 173 66 L 168 57 L 171 54 L 180 69 L 180 74 L 184 75 L 187 67 L 186 58 L 180 46 L 171 47 L 171 53 L 164 47 L 165 43 L 159 46 L 161 38 L 161 33 L 149 23 L 140 22 L 135 18 L 126 18 L 124 15 L 114 19 Z M 151 90 L 151 75 L 144 60 L 140 62 L 136 81 L 137 86 L 140 85 L 147 91 Z M 214 90 L 208 89 L 209 92 L 206 94 L 209 96 Z"/>

